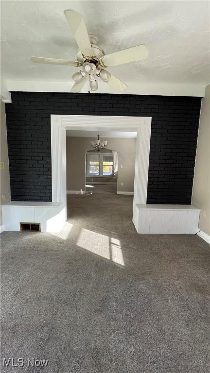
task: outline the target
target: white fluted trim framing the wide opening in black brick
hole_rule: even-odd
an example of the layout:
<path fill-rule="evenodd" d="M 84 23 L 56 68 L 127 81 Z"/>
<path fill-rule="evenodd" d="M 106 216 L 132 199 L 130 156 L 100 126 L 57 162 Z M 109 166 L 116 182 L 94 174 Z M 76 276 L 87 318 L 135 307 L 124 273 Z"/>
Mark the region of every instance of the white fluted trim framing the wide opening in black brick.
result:
<path fill-rule="evenodd" d="M 146 203 L 151 117 L 51 115 L 52 201 L 66 207 L 66 130 L 136 131 L 133 222 L 136 205 Z"/>

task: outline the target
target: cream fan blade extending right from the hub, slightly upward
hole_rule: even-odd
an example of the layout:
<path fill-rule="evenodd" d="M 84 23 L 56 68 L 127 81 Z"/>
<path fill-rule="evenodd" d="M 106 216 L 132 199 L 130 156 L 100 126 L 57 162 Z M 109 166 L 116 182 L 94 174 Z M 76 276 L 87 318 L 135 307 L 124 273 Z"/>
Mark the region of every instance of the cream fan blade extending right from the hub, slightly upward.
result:
<path fill-rule="evenodd" d="M 144 60 L 148 57 L 148 50 L 144 44 L 124 49 L 123 51 L 107 54 L 100 59 L 100 65 L 104 68 L 123 65 L 129 62 Z"/>

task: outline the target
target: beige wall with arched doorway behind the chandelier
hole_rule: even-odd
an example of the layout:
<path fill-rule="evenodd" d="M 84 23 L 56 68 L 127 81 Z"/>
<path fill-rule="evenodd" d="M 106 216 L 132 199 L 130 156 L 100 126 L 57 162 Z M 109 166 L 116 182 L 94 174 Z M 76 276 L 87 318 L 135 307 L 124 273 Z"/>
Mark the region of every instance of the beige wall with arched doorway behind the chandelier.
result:
<path fill-rule="evenodd" d="M 91 150 L 91 140 L 94 138 L 67 137 L 67 190 L 85 190 L 85 153 Z M 118 152 L 117 190 L 133 192 L 136 138 L 108 138 L 107 140 L 108 149 Z"/>

